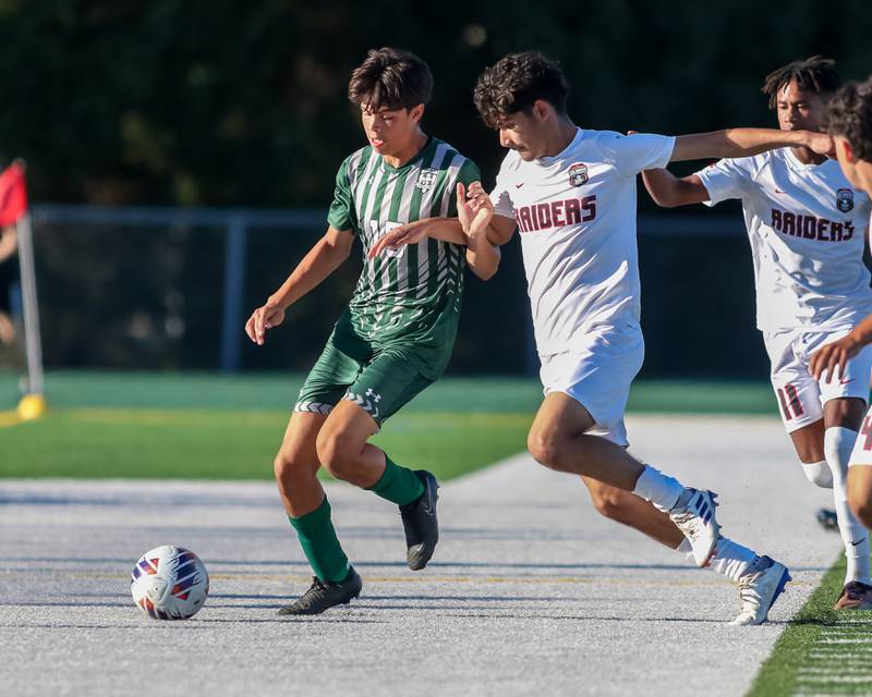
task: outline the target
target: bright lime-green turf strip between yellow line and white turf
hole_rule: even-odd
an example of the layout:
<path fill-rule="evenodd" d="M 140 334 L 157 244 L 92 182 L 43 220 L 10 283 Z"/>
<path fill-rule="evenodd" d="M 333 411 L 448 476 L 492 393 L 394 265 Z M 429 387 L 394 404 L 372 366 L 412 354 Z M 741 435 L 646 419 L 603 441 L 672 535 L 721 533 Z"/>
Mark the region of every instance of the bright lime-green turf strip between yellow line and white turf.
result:
<path fill-rule="evenodd" d="M 447 479 L 524 448 L 529 414 L 399 414 L 373 442 Z M 66 408 L 0 431 L 0 477 L 267 479 L 283 412 Z"/>

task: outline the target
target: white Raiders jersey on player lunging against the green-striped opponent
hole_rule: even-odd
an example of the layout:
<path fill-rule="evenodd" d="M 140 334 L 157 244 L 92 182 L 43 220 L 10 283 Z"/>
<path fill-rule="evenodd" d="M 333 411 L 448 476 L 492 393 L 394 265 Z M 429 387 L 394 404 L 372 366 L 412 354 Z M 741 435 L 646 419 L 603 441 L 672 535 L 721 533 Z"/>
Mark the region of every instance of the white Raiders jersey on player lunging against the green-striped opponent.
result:
<path fill-rule="evenodd" d="M 673 137 L 579 129 L 555 157 L 502 160 L 491 198 L 521 235 L 540 355 L 597 327 L 639 326 L 635 178 L 674 149 Z"/>

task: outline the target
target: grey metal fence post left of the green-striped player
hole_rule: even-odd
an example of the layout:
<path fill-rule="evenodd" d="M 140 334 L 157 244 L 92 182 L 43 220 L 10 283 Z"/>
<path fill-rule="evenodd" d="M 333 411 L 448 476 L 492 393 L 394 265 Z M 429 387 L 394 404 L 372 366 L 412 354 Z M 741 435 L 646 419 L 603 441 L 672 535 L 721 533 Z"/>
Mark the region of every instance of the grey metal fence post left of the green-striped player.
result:
<path fill-rule="evenodd" d="M 221 327 L 221 370 L 223 372 L 235 372 L 240 366 L 246 234 L 246 219 L 239 213 L 232 216 L 227 225 L 225 257 L 225 303 Z"/>

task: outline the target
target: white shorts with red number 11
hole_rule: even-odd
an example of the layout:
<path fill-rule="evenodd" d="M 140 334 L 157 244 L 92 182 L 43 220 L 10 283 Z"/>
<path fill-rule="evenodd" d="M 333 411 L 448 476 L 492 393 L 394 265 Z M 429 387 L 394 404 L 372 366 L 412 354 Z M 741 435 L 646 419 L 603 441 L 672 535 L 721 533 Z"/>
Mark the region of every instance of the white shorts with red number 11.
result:
<path fill-rule="evenodd" d="M 869 378 L 872 372 L 872 345 L 848 360 L 844 375 L 821 381 L 809 372 L 811 356 L 821 346 L 833 343 L 850 329 L 829 332 L 786 330 L 763 332 L 766 353 L 772 362 L 772 387 L 788 433 L 823 418 L 823 405 L 829 400 L 858 398 L 869 401 Z"/>

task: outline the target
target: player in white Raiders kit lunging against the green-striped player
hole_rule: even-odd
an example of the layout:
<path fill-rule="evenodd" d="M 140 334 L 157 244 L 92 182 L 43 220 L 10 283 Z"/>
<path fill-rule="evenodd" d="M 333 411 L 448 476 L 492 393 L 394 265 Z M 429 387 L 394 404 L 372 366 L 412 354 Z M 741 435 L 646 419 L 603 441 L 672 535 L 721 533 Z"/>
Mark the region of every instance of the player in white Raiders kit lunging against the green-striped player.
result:
<path fill-rule="evenodd" d="M 635 246 L 635 175 L 670 160 L 753 155 L 787 145 L 826 152 L 831 139 L 806 132 L 735 129 L 666 137 L 577 127 L 568 84 L 537 52 L 487 69 L 475 105 L 510 149 L 488 196 L 488 239 L 520 230 L 545 399 L 528 439 L 543 465 L 581 475 L 597 509 L 737 582 L 735 624 L 760 624 L 789 579 L 787 568 L 719 535 L 714 494 L 689 489 L 641 464 L 626 448 L 623 409 L 642 365 Z M 384 244 L 413 241 L 422 221 Z M 633 496 L 635 494 L 635 496 Z"/>

